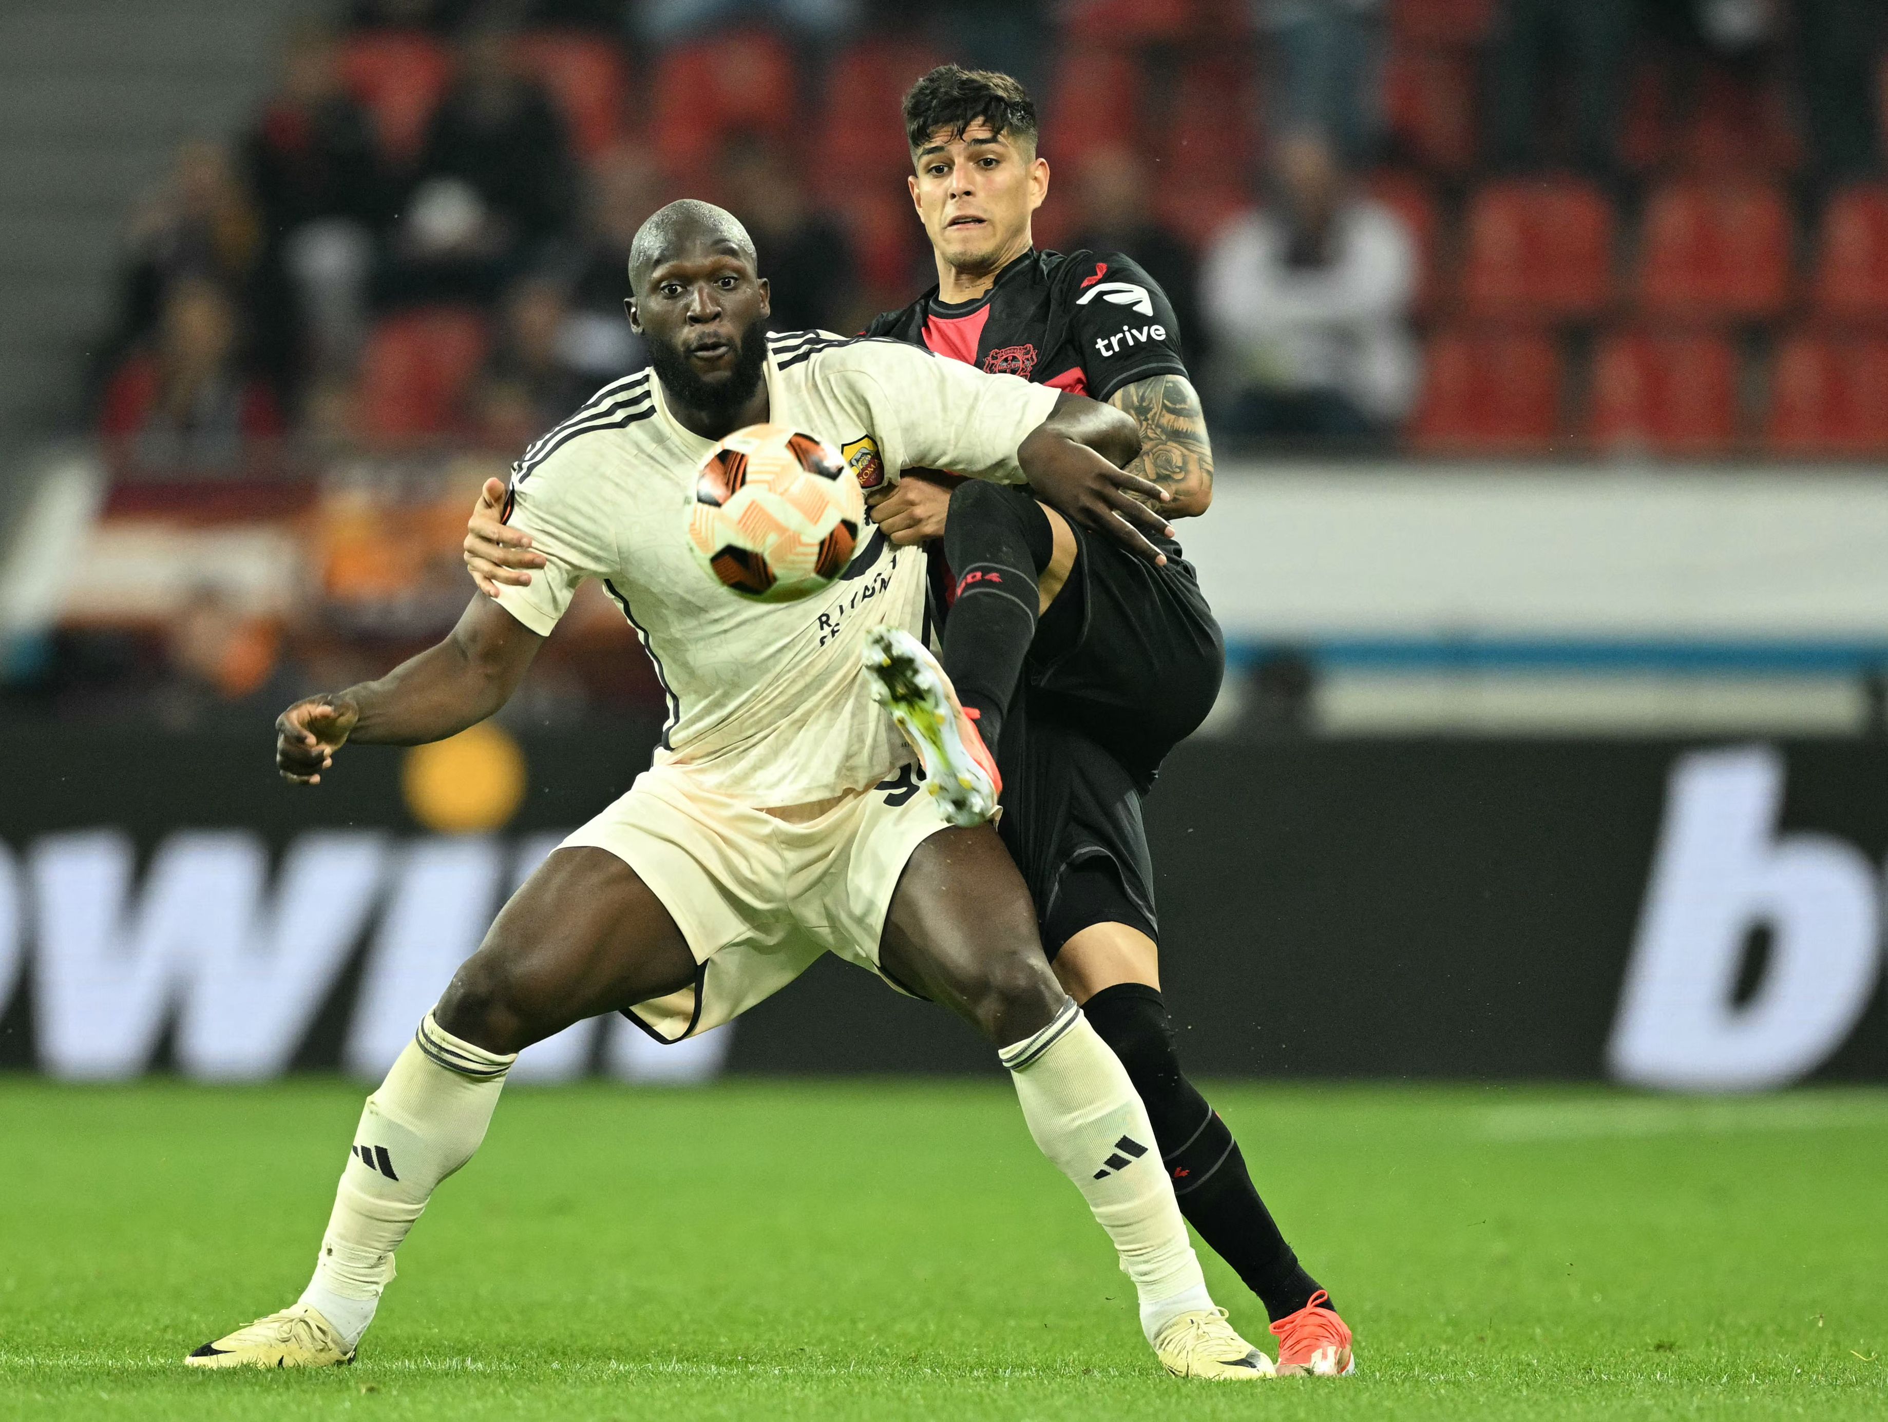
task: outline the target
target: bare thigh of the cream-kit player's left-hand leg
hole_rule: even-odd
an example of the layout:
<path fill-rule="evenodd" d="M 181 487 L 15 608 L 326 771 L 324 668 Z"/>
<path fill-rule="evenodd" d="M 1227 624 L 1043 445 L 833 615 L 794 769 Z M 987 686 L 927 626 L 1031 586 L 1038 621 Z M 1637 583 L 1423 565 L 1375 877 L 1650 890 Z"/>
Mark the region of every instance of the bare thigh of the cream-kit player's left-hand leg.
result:
<path fill-rule="evenodd" d="M 453 975 L 440 1026 L 497 1052 L 695 981 L 674 917 L 615 854 L 555 851 Z"/>

